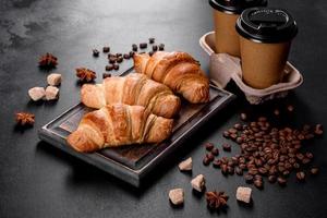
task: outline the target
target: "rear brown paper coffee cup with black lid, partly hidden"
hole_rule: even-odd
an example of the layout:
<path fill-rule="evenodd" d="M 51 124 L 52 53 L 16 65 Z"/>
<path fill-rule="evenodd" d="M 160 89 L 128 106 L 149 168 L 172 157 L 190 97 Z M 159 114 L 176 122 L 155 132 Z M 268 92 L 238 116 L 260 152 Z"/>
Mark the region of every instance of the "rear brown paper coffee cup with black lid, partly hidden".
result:
<path fill-rule="evenodd" d="M 267 0 L 209 0 L 209 4 L 214 9 L 216 52 L 240 57 L 235 23 L 245 9 L 265 7 Z"/>

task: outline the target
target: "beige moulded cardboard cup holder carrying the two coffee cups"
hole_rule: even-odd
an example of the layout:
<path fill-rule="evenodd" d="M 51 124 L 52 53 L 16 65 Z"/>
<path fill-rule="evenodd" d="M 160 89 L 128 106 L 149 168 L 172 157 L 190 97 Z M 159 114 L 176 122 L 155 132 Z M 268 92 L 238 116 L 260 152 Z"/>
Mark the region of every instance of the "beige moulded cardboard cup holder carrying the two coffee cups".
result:
<path fill-rule="evenodd" d="M 250 87 L 242 80 L 241 60 L 239 58 L 227 53 L 215 53 L 215 32 L 209 32 L 202 36 L 199 45 L 210 59 L 210 81 L 219 88 L 225 88 L 230 80 L 233 80 L 245 94 L 250 104 L 258 105 L 266 100 L 286 97 L 289 90 L 296 88 L 303 83 L 302 74 L 290 62 L 287 62 L 281 83 L 263 89 Z"/>

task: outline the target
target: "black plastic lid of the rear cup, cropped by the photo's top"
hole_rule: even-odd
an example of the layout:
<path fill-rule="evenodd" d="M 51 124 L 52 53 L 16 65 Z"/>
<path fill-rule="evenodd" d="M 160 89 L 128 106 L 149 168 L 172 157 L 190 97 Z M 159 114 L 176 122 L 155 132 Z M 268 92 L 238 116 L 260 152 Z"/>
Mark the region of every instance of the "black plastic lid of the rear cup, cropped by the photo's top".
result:
<path fill-rule="evenodd" d="M 266 7 L 267 0 L 209 0 L 209 4 L 225 13 L 241 14 L 249 8 Z"/>

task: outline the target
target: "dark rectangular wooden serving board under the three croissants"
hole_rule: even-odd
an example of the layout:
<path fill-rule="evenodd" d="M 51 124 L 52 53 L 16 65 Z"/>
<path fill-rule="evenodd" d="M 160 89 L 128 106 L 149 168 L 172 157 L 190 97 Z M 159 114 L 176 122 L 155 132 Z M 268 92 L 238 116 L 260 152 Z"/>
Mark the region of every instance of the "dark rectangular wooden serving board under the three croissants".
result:
<path fill-rule="evenodd" d="M 124 74 L 133 73 L 133 70 Z M 39 137 L 51 145 L 70 153 L 135 186 L 141 179 L 149 172 L 174 148 L 182 145 L 192 132 L 206 120 L 218 112 L 232 100 L 234 96 L 210 86 L 210 101 L 208 104 L 192 105 L 182 101 L 182 108 L 174 119 L 171 136 L 159 144 L 126 145 L 117 148 L 106 148 L 93 154 L 82 154 L 73 150 L 65 142 L 66 136 L 76 130 L 82 117 L 92 111 L 83 104 L 78 104 L 61 116 L 44 125 L 39 130 Z"/>

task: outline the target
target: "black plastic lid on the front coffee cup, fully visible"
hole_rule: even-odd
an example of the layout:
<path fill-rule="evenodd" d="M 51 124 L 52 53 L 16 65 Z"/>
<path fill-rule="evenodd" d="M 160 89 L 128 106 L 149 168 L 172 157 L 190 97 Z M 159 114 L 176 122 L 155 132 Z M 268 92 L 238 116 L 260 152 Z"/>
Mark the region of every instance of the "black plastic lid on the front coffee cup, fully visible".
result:
<path fill-rule="evenodd" d="M 252 8 L 237 22 L 238 33 L 259 43 L 288 41 L 298 34 L 294 19 L 283 9 Z"/>

